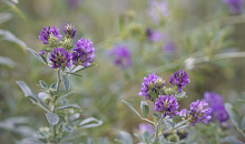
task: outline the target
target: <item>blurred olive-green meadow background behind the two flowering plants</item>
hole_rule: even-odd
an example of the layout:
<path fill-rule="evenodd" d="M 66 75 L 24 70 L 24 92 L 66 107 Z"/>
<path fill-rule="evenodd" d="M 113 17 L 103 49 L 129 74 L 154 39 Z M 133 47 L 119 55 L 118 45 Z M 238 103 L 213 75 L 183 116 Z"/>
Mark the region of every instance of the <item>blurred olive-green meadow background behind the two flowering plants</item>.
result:
<path fill-rule="evenodd" d="M 70 78 L 76 91 L 71 102 L 78 103 L 86 116 L 104 121 L 99 127 L 85 130 L 96 141 L 112 141 L 120 130 L 137 132 L 141 121 L 121 100 L 139 110 L 145 97 L 138 92 L 144 76 L 153 72 L 167 84 L 177 70 L 189 74 L 190 83 L 185 88 L 188 99 L 180 101 L 180 109 L 203 99 L 204 92 L 215 91 L 244 115 L 245 105 L 236 102 L 245 97 L 242 11 L 243 7 L 239 12 L 232 11 L 223 0 L 0 1 L 1 143 L 12 144 L 49 125 L 45 112 L 24 97 L 16 81 L 24 81 L 36 93 L 39 80 L 48 84 L 56 81 L 53 70 L 27 51 L 45 49 L 40 31 L 53 24 L 62 32 L 66 23 L 72 23 L 77 28 L 75 42 L 90 39 L 96 48 L 97 65 L 82 71 L 82 79 Z M 124 68 L 109 54 L 119 44 L 130 51 L 131 64 Z M 18 121 L 7 123 L 17 116 Z M 86 142 L 85 137 L 79 142 Z"/>

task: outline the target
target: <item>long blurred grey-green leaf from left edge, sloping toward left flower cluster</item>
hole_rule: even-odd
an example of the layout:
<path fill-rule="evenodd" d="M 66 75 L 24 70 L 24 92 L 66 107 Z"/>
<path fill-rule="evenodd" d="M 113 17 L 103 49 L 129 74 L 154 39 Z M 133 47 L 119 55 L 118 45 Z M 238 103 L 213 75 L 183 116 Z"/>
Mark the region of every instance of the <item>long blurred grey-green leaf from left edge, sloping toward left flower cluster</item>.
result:
<path fill-rule="evenodd" d="M 12 34 L 10 31 L 0 30 L 0 35 L 3 37 L 3 40 L 13 42 L 13 43 L 18 44 L 20 48 L 22 48 L 22 50 L 26 51 L 27 44 L 26 44 L 23 41 L 21 41 L 20 39 L 18 39 L 18 38 L 17 38 L 14 34 Z"/>

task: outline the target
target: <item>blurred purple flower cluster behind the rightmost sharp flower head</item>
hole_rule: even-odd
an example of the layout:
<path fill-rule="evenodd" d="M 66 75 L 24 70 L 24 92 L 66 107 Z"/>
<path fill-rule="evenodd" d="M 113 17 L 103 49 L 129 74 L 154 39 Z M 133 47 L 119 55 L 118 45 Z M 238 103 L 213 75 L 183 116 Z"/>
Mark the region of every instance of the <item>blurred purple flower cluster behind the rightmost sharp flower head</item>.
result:
<path fill-rule="evenodd" d="M 205 101 L 209 103 L 212 119 L 218 120 L 219 124 L 227 123 L 229 115 L 224 106 L 224 99 L 215 92 L 204 93 Z"/>

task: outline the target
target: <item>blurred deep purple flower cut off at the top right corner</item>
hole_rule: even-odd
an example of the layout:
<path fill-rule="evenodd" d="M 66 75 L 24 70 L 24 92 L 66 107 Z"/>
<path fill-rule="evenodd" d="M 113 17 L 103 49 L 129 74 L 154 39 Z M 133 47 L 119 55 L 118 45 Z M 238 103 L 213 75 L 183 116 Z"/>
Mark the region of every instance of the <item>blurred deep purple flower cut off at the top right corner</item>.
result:
<path fill-rule="evenodd" d="M 223 0 L 229 7 L 229 12 L 232 14 L 241 14 L 243 13 L 243 0 Z"/>

